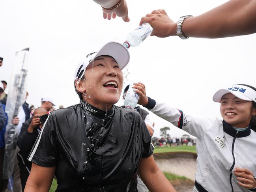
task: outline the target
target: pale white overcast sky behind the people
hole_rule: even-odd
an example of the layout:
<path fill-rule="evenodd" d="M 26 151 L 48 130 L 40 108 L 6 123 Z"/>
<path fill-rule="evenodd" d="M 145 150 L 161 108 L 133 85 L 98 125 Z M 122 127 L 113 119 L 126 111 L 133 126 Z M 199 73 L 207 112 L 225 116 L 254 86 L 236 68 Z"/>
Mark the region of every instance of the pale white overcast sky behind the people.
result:
<path fill-rule="evenodd" d="M 104 20 L 92 0 L 0 1 L 0 79 L 9 82 L 15 52 L 30 47 L 27 102 L 40 106 L 43 95 L 56 106 L 77 104 L 73 75 L 80 59 L 108 41 L 123 43 L 142 16 L 165 9 L 173 21 L 183 15 L 200 15 L 224 0 L 127 0 L 131 21 Z M 146 85 L 147 95 L 194 116 L 220 117 L 215 91 L 232 84 L 256 86 L 256 34 L 224 39 L 181 40 L 178 36 L 148 37 L 130 48 L 131 60 L 123 70 L 124 82 L 134 78 Z M 127 72 L 129 71 L 129 73 Z M 117 105 L 123 104 L 120 99 Z M 185 132 L 151 114 L 159 129 L 171 127 L 171 136 Z"/>

